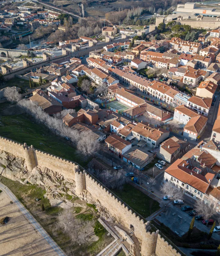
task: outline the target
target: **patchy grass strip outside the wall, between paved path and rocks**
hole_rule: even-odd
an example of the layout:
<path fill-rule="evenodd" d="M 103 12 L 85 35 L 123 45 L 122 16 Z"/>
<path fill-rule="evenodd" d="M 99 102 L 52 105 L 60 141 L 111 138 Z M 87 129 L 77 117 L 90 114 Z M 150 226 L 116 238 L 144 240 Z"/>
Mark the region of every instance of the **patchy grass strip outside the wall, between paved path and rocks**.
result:
<path fill-rule="evenodd" d="M 99 238 L 97 241 L 85 243 L 82 245 L 79 245 L 77 242 L 72 243 L 66 234 L 56 229 L 57 214 L 63 209 L 59 206 L 50 205 L 49 199 L 43 197 L 46 191 L 42 186 L 27 186 L 21 184 L 18 181 L 7 179 L 1 175 L 0 177 L 1 182 L 5 186 L 9 187 L 12 193 L 19 199 L 21 203 L 23 203 L 23 205 L 30 211 L 35 219 L 42 225 L 42 227 L 60 246 L 60 248 L 66 252 L 67 255 L 97 255 L 101 250 L 103 250 L 109 243 L 113 241 L 113 237 L 107 236 L 107 231 L 105 228 L 98 221 L 96 221 L 94 225 L 94 233 Z M 37 202 L 36 198 L 41 198 L 41 200 Z M 42 203 L 45 207 L 44 212 L 42 212 L 41 209 Z M 88 210 L 85 214 L 80 214 L 78 216 L 80 219 L 84 220 L 97 218 L 94 216 L 91 210 Z"/>

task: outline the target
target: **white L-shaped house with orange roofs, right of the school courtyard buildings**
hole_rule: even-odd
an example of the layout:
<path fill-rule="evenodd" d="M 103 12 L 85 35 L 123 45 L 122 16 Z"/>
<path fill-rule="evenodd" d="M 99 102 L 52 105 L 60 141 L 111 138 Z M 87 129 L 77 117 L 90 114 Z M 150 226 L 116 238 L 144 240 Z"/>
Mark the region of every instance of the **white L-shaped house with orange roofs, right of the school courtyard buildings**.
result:
<path fill-rule="evenodd" d="M 178 123 L 185 124 L 183 136 L 190 140 L 196 140 L 204 128 L 206 127 L 208 118 L 198 114 L 195 110 L 190 109 L 185 105 L 175 108 L 174 120 Z"/>

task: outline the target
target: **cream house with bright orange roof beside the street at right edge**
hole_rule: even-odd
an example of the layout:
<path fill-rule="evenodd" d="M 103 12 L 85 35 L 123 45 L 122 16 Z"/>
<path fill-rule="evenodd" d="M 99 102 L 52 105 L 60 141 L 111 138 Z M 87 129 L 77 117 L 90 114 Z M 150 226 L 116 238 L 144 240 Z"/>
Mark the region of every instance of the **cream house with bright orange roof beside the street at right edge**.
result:
<path fill-rule="evenodd" d="M 211 81 L 201 82 L 196 88 L 196 96 L 202 98 L 213 98 L 218 85 Z"/>

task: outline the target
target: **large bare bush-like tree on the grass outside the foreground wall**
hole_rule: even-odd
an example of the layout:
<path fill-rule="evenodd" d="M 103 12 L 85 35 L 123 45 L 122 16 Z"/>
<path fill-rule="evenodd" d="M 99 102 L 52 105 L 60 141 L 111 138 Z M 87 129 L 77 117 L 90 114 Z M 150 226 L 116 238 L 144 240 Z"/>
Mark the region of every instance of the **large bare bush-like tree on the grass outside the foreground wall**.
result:
<path fill-rule="evenodd" d="M 58 214 L 57 229 L 68 235 L 73 243 L 87 243 L 94 235 L 94 220 L 81 220 L 73 215 L 73 209 L 65 209 Z"/>

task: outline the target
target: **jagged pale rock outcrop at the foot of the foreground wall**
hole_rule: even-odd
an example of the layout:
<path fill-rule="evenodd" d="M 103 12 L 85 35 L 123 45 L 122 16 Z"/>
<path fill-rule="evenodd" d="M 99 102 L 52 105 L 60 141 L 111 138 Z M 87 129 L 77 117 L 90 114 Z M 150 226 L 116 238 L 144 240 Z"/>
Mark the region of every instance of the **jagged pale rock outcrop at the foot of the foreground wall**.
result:
<path fill-rule="evenodd" d="M 20 181 L 22 184 L 44 186 L 45 197 L 50 200 L 52 206 L 59 205 L 62 208 L 79 206 L 79 203 L 74 205 L 69 200 L 76 197 L 74 180 L 65 179 L 60 173 L 41 166 L 37 166 L 29 172 L 24 159 L 5 151 L 0 151 L 0 174 L 11 180 Z"/>

